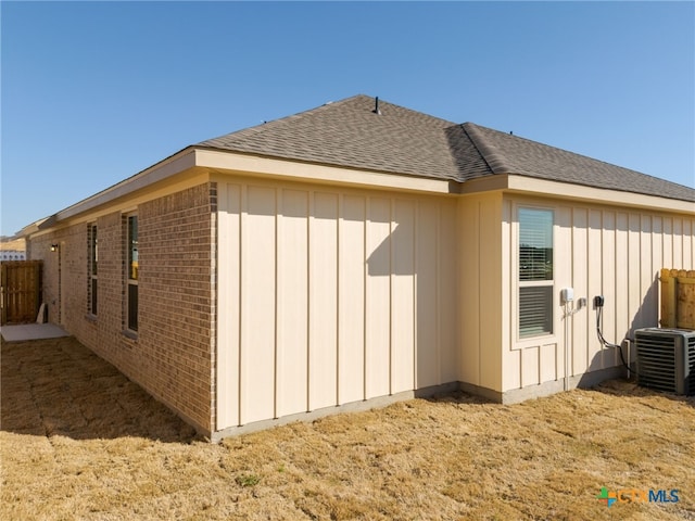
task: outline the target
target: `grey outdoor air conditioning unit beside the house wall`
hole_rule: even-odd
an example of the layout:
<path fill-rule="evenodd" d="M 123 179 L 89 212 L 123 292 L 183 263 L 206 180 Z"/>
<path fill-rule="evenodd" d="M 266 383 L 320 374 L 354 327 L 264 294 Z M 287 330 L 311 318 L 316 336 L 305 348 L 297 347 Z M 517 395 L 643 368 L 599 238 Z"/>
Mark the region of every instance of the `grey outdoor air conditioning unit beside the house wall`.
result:
<path fill-rule="evenodd" d="M 634 339 L 640 385 L 695 395 L 695 331 L 639 329 Z"/>

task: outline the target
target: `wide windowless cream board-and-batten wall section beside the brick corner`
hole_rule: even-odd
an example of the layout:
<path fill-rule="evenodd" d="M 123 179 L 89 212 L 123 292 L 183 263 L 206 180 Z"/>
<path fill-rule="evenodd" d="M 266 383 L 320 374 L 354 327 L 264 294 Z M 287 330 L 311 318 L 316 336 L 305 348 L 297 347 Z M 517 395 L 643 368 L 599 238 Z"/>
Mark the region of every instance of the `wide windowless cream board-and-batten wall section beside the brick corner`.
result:
<path fill-rule="evenodd" d="M 217 425 L 457 380 L 456 202 L 218 185 Z"/>

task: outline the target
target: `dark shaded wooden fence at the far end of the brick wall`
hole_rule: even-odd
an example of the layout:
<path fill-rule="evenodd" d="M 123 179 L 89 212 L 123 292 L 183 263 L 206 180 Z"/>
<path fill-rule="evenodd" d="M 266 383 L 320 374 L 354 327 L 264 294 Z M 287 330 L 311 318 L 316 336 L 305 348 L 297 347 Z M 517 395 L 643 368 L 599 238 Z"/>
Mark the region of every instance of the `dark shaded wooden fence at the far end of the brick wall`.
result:
<path fill-rule="evenodd" d="M 41 304 L 41 260 L 3 262 L 2 323 L 33 322 Z"/>

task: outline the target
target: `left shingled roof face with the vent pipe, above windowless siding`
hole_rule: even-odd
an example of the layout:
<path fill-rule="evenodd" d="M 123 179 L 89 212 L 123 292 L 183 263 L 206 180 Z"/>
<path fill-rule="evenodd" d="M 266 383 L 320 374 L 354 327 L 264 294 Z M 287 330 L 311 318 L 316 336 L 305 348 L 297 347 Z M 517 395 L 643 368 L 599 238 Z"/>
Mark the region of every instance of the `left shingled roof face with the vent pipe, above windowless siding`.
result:
<path fill-rule="evenodd" d="M 352 168 L 458 179 L 445 130 L 454 123 L 356 96 L 199 147 Z"/>

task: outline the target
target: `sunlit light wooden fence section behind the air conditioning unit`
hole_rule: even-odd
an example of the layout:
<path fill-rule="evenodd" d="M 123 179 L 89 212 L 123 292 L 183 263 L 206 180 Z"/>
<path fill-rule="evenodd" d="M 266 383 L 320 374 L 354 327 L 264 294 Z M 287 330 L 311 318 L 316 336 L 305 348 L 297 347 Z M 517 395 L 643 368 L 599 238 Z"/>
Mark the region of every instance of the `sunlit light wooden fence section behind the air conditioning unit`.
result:
<path fill-rule="evenodd" d="M 661 327 L 695 330 L 695 270 L 661 270 Z"/>

